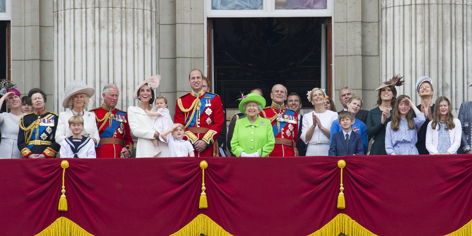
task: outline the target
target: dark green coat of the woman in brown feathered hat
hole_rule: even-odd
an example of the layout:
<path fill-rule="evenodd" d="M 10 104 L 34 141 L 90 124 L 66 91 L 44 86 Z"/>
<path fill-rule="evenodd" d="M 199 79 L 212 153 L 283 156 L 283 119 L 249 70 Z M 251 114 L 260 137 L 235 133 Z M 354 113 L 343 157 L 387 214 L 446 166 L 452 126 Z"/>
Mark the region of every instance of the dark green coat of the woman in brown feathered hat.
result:
<path fill-rule="evenodd" d="M 392 109 L 393 110 L 393 109 Z M 390 118 L 386 119 L 382 124 L 382 111 L 377 106 L 369 111 L 367 115 L 367 136 L 374 139 L 374 143 L 370 148 L 370 155 L 387 155 L 385 152 L 385 126 L 392 118 L 392 110 L 390 110 Z"/>

